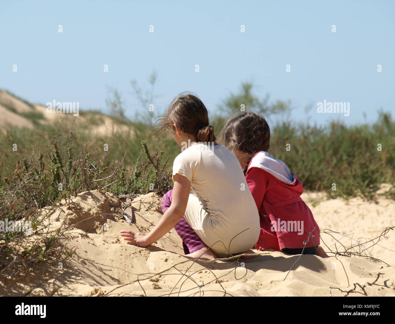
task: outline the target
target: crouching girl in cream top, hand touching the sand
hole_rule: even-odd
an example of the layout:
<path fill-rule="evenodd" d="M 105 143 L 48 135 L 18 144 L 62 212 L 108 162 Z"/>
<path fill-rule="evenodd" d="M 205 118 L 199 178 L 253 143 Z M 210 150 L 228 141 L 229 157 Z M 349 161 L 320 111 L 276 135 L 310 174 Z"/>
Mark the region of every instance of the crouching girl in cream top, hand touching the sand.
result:
<path fill-rule="evenodd" d="M 164 214 L 148 235 L 121 231 L 126 241 L 148 246 L 175 227 L 188 256 L 216 258 L 252 253 L 260 233 L 259 213 L 237 158 L 215 142 L 207 109 L 191 94 L 181 94 L 162 116 L 181 146 L 173 163 L 174 188 L 162 200 Z M 190 226 L 183 226 L 183 224 Z M 188 250 L 188 230 L 203 244 Z M 197 250 L 196 250 L 197 249 Z"/>

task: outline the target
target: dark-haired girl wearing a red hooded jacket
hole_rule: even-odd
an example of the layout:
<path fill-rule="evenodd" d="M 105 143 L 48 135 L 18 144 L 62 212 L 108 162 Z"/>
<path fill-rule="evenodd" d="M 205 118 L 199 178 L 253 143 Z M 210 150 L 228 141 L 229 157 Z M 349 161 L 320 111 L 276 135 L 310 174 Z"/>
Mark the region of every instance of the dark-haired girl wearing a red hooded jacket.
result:
<path fill-rule="evenodd" d="M 267 152 L 270 129 L 265 118 L 245 112 L 229 119 L 218 142 L 239 160 L 258 207 L 261 229 L 255 248 L 326 256 L 320 247 L 320 228 L 300 197 L 302 183 Z"/>

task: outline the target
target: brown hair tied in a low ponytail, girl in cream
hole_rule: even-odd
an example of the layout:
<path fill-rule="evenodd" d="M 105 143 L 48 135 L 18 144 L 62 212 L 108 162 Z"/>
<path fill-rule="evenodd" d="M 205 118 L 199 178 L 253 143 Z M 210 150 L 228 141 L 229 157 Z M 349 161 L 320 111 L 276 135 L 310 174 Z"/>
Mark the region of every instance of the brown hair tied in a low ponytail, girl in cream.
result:
<path fill-rule="evenodd" d="M 193 135 L 197 142 L 214 142 L 214 127 L 209 125 L 209 116 L 203 102 L 195 95 L 187 92 L 180 93 L 167 106 L 164 115 L 156 122 L 158 133 L 174 131 L 176 124 L 182 133 Z"/>

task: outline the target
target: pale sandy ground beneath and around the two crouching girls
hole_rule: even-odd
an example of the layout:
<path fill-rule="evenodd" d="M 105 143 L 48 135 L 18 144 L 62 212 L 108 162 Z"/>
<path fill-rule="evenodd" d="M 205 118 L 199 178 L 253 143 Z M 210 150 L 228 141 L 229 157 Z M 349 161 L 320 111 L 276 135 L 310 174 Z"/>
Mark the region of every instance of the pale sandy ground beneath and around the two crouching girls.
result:
<path fill-rule="evenodd" d="M 377 203 L 325 200 L 320 193 L 305 193 L 303 198 L 322 232 L 326 228 L 340 233 L 332 233 L 334 238 L 321 235 L 333 251 L 334 243 L 338 251 L 344 251 L 394 225 L 395 202 L 384 198 Z M 359 248 L 359 252 L 391 266 L 360 256 L 299 258 L 274 251 L 256 251 L 261 255 L 252 260 L 194 261 L 183 256 L 181 239 L 174 230 L 148 248 L 125 243 L 119 235 L 121 229 L 147 233 L 161 216 L 160 197 L 149 193 L 133 200 L 135 224 L 128 224 L 122 217 L 125 200 L 95 190 L 58 208 L 51 216 L 52 226 L 77 224 L 67 243 L 75 254 L 0 285 L 0 295 L 395 296 L 393 230 L 378 244 Z M 329 251 L 325 244 L 322 246 Z M 355 290 L 354 283 L 360 285 L 355 285 Z"/>

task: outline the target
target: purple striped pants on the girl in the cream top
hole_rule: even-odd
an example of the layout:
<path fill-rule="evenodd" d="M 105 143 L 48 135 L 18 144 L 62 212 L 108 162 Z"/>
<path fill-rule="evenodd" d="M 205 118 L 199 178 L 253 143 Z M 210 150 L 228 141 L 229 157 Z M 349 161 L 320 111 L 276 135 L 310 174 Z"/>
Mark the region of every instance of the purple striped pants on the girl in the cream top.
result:
<path fill-rule="evenodd" d="M 160 202 L 160 207 L 162 207 L 163 212 L 166 212 L 166 210 L 169 209 L 172 198 L 173 189 L 167 191 Z M 184 217 L 182 217 L 181 220 L 174 226 L 174 229 L 182 239 L 182 248 L 184 248 L 184 254 L 195 252 L 206 246 Z"/>

